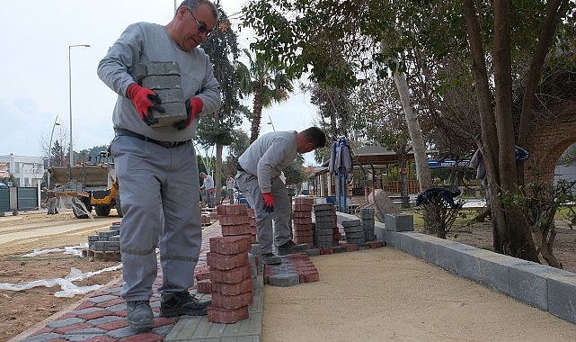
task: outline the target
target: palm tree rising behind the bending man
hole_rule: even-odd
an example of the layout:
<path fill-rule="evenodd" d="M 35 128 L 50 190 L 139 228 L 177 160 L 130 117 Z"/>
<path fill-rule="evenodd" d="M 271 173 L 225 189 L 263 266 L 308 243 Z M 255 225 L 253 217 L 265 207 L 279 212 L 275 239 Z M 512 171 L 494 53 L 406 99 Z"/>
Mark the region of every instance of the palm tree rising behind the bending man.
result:
<path fill-rule="evenodd" d="M 254 96 L 250 134 L 250 143 L 253 143 L 260 134 L 262 108 L 268 108 L 274 102 L 288 100 L 288 94 L 294 87 L 286 74 L 270 65 L 269 59 L 261 54 L 256 54 L 253 58 L 247 49 L 244 49 L 244 53 L 250 61 L 250 68 L 242 63 L 238 66 L 241 77 L 240 93 Z"/>

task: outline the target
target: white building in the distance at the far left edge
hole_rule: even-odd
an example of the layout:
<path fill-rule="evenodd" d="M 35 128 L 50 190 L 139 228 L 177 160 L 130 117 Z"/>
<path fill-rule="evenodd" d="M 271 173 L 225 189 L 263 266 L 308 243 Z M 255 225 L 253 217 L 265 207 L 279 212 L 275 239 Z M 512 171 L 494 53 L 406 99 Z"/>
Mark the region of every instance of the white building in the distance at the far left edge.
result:
<path fill-rule="evenodd" d="M 17 179 L 18 184 L 8 184 L 13 186 L 37 187 L 42 182 L 44 168 L 44 158 L 16 156 L 12 153 L 0 156 L 0 164 L 5 163 L 9 175 Z"/>

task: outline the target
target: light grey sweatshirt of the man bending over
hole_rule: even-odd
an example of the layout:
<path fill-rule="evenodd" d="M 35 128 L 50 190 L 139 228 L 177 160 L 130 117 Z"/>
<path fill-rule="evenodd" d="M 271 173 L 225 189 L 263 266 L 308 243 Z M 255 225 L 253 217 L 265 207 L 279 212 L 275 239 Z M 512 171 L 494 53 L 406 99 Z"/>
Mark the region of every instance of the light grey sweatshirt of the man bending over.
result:
<path fill-rule="evenodd" d="M 238 158 L 245 172 L 258 177 L 262 193 L 270 193 L 270 179 L 278 177 L 296 159 L 296 134 L 296 130 L 264 134 Z"/>

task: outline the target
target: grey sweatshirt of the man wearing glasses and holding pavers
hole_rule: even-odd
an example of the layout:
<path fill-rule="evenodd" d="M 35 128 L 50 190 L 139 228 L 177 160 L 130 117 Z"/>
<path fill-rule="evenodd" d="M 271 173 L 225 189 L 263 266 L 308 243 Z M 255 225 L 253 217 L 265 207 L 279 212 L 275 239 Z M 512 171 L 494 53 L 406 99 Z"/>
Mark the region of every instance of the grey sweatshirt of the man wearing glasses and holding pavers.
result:
<path fill-rule="evenodd" d="M 194 94 L 204 103 L 202 112 L 184 130 L 172 126 L 149 127 L 138 116 L 132 100 L 126 97 L 128 85 L 136 82 L 137 64 L 150 61 L 175 61 L 182 78 L 184 99 Z M 155 23 L 133 23 L 120 35 L 98 64 L 98 76 L 118 94 L 112 113 L 114 128 L 132 130 L 163 141 L 185 141 L 194 138 L 202 113 L 216 112 L 220 107 L 220 86 L 214 78 L 212 64 L 203 49 L 184 51 L 170 38 L 164 26 Z"/>

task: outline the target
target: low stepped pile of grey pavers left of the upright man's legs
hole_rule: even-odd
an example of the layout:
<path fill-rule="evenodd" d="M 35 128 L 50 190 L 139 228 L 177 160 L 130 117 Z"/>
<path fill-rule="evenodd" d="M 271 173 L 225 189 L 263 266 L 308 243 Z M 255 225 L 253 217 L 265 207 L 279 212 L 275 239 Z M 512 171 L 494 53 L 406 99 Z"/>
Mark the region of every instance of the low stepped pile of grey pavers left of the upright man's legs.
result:
<path fill-rule="evenodd" d="M 110 229 L 99 231 L 98 235 L 88 236 L 88 249 L 82 254 L 94 260 L 120 261 L 120 222 L 112 223 Z"/>

